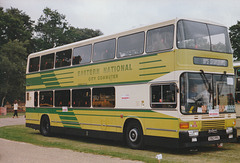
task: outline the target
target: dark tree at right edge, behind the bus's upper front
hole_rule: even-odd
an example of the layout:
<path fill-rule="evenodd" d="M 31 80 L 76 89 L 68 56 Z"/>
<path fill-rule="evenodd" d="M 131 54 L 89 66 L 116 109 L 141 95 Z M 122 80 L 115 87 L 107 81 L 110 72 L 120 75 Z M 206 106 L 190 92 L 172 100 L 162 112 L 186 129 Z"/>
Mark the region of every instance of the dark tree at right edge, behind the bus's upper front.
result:
<path fill-rule="evenodd" d="M 233 48 L 233 56 L 240 60 L 240 21 L 237 24 L 231 26 L 230 30 L 230 40 Z"/>

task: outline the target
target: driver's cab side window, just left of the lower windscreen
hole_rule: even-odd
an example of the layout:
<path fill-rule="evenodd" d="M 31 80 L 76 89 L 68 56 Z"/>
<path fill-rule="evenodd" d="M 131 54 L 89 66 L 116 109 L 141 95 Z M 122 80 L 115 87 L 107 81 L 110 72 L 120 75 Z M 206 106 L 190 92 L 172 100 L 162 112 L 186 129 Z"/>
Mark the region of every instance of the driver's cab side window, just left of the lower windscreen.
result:
<path fill-rule="evenodd" d="M 152 108 L 175 108 L 176 107 L 176 85 L 152 85 L 151 86 Z"/>

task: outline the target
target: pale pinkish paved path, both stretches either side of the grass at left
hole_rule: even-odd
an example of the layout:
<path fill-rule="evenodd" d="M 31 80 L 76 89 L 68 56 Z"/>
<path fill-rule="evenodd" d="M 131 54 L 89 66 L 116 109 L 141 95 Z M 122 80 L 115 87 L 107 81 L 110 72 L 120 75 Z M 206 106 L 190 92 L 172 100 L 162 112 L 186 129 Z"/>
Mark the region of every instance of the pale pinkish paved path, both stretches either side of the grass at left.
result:
<path fill-rule="evenodd" d="M 24 117 L 0 118 L 0 127 L 24 124 Z M 10 141 L 0 138 L 0 162 L 4 163 L 137 163 L 109 156 L 74 152 L 66 149 L 40 147 L 28 143 Z"/>

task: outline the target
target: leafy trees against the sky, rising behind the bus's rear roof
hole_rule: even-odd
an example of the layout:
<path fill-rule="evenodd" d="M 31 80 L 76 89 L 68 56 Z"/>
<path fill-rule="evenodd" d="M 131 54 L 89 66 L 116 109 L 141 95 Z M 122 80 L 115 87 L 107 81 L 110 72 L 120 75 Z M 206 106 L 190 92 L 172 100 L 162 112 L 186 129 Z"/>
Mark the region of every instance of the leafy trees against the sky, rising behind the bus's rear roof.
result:
<path fill-rule="evenodd" d="M 35 26 L 35 51 L 49 49 L 102 35 L 100 30 L 75 28 L 68 24 L 65 15 L 45 8 Z"/>

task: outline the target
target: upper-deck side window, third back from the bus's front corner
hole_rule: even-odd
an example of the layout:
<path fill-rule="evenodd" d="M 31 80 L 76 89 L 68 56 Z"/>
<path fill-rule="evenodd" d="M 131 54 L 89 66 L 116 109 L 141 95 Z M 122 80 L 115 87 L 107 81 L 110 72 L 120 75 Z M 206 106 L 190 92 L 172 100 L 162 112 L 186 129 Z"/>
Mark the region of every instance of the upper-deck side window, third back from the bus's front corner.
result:
<path fill-rule="evenodd" d="M 115 45 L 115 39 L 94 44 L 93 61 L 113 59 L 115 57 Z"/>

